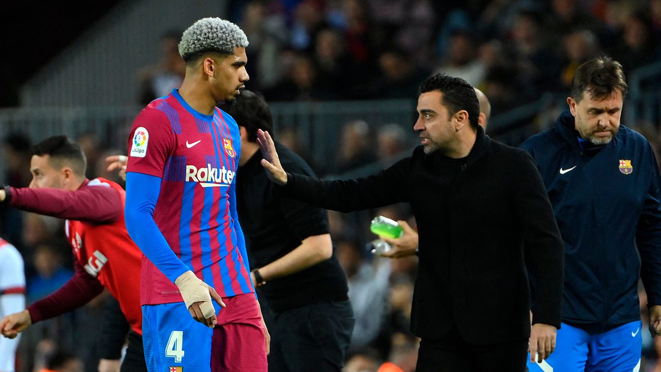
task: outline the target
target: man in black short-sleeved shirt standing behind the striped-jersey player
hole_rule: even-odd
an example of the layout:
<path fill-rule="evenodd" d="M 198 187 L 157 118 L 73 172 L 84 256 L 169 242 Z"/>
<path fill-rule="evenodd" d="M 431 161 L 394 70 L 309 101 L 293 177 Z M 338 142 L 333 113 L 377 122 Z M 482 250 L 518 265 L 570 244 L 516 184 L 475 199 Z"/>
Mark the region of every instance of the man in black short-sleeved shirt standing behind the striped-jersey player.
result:
<path fill-rule="evenodd" d="M 256 144 L 270 131 L 261 96 L 243 90 L 227 108 L 241 131 L 237 212 L 250 255 L 251 278 L 274 311 L 269 371 L 341 371 L 354 328 L 344 272 L 333 255 L 327 213 L 281 195 L 268 180 Z M 275 143 L 282 164 L 314 176 L 292 150 Z"/>

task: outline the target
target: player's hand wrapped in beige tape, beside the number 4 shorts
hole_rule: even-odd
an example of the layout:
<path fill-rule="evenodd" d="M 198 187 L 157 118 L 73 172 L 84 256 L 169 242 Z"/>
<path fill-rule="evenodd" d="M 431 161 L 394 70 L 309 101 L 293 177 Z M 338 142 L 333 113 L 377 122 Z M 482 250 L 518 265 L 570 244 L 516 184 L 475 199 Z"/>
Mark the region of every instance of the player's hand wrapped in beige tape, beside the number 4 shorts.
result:
<path fill-rule="evenodd" d="M 176 278 L 175 284 L 179 288 L 181 297 L 184 299 L 186 308 L 190 311 L 193 319 L 210 328 L 214 328 L 217 319 L 211 299 L 213 298 L 220 307 L 225 307 L 223 299 L 215 292 L 214 288 L 206 284 L 190 270 Z"/>

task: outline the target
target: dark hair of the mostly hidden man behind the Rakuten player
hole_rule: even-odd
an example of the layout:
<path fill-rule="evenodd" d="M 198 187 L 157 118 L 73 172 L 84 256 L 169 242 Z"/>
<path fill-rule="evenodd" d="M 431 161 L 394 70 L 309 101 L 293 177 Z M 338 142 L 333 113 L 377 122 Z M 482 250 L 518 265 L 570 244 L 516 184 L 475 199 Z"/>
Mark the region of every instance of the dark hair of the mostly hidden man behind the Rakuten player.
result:
<path fill-rule="evenodd" d="M 227 108 L 237 124 L 248 131 L 248 140 L 256 142 L 257 129 L 268 131 L 273 137 L 273 117 L 266 100 L 261 94 L 250 90 L 241 90 L 234 103 Z"/>

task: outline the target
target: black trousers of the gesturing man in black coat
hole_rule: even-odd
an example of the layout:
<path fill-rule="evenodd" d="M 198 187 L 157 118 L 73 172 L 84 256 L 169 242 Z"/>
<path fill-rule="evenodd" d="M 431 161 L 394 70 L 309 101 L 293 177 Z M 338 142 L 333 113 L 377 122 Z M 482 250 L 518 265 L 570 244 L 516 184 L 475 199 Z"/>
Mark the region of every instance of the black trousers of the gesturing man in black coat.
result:
<path fill-rule="evenodd" d="M 469 344 L 453 327 L 440 340 L 421 340 L 416 372 L 524 372 L 527 348 L 527 339 Z"/>

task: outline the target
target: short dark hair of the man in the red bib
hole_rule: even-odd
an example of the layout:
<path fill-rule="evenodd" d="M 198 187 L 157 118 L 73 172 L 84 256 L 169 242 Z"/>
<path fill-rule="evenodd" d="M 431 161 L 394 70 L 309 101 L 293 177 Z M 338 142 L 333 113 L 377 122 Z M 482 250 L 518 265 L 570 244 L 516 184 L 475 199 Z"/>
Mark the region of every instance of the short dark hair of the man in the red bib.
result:
<path fill-rule="evenodd" d="M 50 156 L 48 163 L 53 168 L 61 169 L 68 166 L 73 173 L 85 175 L 85 168 L 87 168 L 85 153 L 83 153 L 83 150 L 81 150 L 78 144 L 67 136 L 48 137 L 34 144 L 31 150 L 32 155 Z"/>

